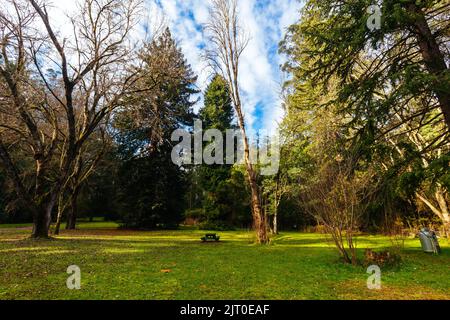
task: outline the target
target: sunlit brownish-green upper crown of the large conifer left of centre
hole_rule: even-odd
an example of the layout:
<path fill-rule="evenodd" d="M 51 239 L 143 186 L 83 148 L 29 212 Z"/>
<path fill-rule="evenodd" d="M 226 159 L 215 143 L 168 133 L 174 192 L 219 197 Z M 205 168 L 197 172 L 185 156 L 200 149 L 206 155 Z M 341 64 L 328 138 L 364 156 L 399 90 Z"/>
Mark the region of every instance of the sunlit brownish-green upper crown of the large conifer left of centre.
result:
<path fill-rule="evenodd" d="M 192 126 L 191 100 L 198 93 L 197 77 L 167 28 L 157 39 L 146 44 L 139 55 L 143 67 L 135 90 L 116 115 L 115 126 L 126 132 L 122 148 L 128 155 L 138 149 L 156 148 L 167 143 L 172 132 Z"/>

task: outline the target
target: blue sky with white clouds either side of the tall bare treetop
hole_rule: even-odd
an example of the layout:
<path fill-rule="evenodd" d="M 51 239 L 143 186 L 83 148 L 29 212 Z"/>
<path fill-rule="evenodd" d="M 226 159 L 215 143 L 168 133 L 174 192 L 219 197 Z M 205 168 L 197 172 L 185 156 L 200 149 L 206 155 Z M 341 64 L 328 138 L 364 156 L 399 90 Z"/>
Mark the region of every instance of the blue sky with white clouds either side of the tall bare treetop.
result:
<path fill-rule="evenodd" d="M 147 0 L 150 21 L 168 25 L 199 76 L 204 90 L 211 70 L 201 58 L 205 37 L 202 25 L 208 19 L 206 0 Z M 241 24 L 250 43 L 241 61 L 240 85 L 247 125 L 272 131 L 282 118 L 280 91 L 284 76 L 278 43 L 286 28 L 299 17 L 298 0 L 240 0 Z M 157 18 L 156 18 L 157 17 Z M 156 19 L 155 19 L 156 18 Z M 200 104 L 197 106 L 199 108 Z"/>

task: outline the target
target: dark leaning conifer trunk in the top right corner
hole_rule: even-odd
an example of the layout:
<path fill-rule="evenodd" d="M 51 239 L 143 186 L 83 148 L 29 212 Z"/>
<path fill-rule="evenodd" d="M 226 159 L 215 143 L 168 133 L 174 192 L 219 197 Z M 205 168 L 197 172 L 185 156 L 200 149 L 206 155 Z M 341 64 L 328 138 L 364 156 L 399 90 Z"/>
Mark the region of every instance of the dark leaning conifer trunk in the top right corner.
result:
<path fill-rule="evenodd" d="M 417 43 L 427 70 L 436 77 L 434 93 L 444 114 L 444 120 L 450 129 L 450 84 L 448 83 L 448 68 L 439 44 L 425 19 L 425 15 L 415 3 L 409 4 L 407 10 L 415 16 L 413 24 Z"/>

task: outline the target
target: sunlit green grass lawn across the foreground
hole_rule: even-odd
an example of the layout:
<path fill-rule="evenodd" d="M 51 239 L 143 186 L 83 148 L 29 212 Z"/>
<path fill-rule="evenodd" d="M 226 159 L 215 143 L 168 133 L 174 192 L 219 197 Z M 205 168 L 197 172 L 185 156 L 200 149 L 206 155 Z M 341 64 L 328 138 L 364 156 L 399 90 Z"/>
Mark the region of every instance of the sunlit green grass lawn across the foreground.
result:
<path fill-rule="evenodd" d="M 340 263 L 318 234 L 283 232 L 257 246 L 245 231 L 201 243 L 198 230 L 79 227 L 39 241 L 27 239 L 28 225 L 0 228 L 0 299 L 450 299 L 450 246 L 442 239 L 440 256 L 406 240 L 402 266 L 382 270 L 382 289 L 369 290 L 365 268 Z M 390 244 L 358 239 L 361 255 Z M 69 265 L 81 269 L 81 290 L 66 287 Z"/>

